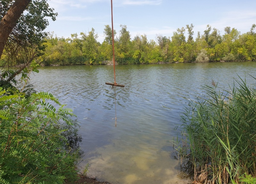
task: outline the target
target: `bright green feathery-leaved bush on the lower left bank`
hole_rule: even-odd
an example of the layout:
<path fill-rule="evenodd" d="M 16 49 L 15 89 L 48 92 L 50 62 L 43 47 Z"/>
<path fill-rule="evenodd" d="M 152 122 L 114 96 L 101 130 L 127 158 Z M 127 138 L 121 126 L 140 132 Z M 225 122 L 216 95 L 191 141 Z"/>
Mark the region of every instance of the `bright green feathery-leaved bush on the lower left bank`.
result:
<path fill-rule="evenodd" d="M 72 135 L 66 131 L 72 126 L 70 109 L 50 93 L 25 98 L 3 88 L 0 107 L 1 183 L 61 184 L 65 178 L 75 179 L 79 155 L 67 146 L 70 139 L 65 136 Z"/>

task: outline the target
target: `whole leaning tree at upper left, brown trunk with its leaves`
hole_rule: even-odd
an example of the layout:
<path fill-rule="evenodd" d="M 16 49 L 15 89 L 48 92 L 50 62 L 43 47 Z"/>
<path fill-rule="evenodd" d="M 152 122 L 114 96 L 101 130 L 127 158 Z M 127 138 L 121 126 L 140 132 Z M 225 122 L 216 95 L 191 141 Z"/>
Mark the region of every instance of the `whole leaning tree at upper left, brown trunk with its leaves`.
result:
<path fill-rule="evenodd" d="M 34 58 L 42 55 L 42 41 L 47 35 L 44 29 L 49 24 L 45 17 L 55 20 L 57 13 L 49 8 L 46 0 L 3 0 L 0 6 L 0 56 L 2 58 L 5 51 L 5 67 L 8 67 L 8 71 L 0 73 L 2 85 L 13 80 Z M 9 69 L 17 65 L 20 67 Z"/>

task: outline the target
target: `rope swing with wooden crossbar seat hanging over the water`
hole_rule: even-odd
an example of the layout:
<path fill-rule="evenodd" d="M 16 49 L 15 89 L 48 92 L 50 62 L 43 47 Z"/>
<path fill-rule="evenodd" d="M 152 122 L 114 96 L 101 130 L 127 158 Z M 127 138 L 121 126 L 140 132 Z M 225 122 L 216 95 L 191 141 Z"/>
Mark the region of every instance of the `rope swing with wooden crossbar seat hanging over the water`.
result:
<path fill-rule="evenodd" d="M 112 20 L 112 49 L 113 49 L 113 65 L 114 65 L 114 83 L 106 82 L 106 85 L 111 85 L 115 91 L 115 127 L 117 127 L 117 105 L 116 105 L 116 86 L 124 87 L 124 85 L 117 84 L 116 82 L 116 70 L 115 70 L 115 49 L 114 49 L 114 25 L 113 25 L 113 5 L 111 0 L 111 20 Z"/>

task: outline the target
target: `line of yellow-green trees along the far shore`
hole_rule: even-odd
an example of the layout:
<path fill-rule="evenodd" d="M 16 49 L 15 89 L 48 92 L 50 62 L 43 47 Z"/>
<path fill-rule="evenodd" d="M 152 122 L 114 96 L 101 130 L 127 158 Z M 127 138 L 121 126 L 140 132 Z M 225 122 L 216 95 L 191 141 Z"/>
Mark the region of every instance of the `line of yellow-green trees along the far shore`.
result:
<path fill-rule="evenodd" d="M 115 61 L 117 64 L 154 64 L 208 61 L 254 61 L 256 59 L 256 25 L 241 34 L 236 28 L 220 30 L 207 25 L 204 32 L 194 36 L 194 25 L 178 28 L 172 37 L 156 35 L 148 40 L 147 35 L 131 39 L 126 25 L 120 25 L 119 36 L 114 30 Z M 186 33 L 188 34 L 186 37 Z M 54 32 L 45 37 L 45 52 L 39 58 L 42 65 L 111 64 L 112 32 L 104 28 L 105 39 L 97 41 L 98 34 L 92 28 L 88 33 L 57 37 Z M 194 38 L 195 37 L 195 38 Z"/>

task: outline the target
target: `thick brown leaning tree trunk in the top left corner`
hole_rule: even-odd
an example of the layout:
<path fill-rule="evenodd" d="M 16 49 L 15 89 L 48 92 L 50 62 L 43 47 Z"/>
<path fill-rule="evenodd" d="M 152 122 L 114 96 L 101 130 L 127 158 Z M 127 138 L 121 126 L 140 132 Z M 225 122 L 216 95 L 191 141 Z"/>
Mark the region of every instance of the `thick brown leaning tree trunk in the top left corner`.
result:
<path fill-rule="evenodd" d="M 31 0 L 16 0 L 0 21 L 0 58 L 8 37 Z"/>

